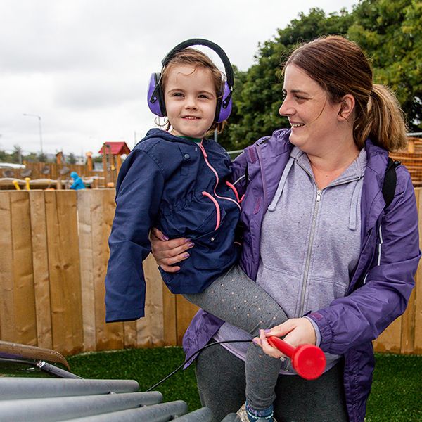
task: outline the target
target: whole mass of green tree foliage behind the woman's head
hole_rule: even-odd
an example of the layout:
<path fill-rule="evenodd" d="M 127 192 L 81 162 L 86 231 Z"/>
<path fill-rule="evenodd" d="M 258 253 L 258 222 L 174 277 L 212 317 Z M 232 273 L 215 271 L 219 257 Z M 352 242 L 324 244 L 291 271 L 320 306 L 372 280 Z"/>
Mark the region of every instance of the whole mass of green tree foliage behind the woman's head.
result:
<path fill-rule="evenodd" d="M 422 2 L 361 0 L 352 13 L 300 13 L 276 37 L 260 44 L 256 63 L 235 72 L 234 113 L 219 142 L 227 150 L 250 145 L 288 122 L 278 114 L 283 101 L 281 67 L 298 44 L 326 34 L 356 41 L 371 58 L 374 82 L 396 91 L 412 131 L 422 129 Z"/>

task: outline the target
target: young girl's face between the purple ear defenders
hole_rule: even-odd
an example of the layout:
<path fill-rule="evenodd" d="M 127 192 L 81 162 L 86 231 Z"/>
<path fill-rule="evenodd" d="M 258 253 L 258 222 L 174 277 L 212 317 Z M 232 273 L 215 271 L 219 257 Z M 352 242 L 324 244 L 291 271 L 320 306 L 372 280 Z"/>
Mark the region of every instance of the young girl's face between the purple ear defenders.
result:
<path fill-rule="evenodd" d="M 174 65 L 165 81 L 165 108 L 175 136 L 203 138 L 215 117 L 217 95 L 211 71 Z"/>

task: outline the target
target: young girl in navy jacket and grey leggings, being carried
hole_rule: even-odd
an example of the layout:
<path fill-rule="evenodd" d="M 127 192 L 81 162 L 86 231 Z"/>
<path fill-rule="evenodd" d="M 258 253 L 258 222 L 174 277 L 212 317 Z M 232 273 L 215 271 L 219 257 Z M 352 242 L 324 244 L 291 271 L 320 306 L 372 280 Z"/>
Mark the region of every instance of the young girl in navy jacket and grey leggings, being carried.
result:
<path fill-rule="evenodd" d="M 210 44 L 206 45 L 215 46 Z M 180 271 L 170 274 L 160 269 L 172 293 L 183 294 L 252 338 L 260 328 L 281 324 L 287 316 L 236 265 L 235 228 L 241 199 L 236 184 L 230 182 L 229 155 L 218 143 L 205 139 L 224 125 L 219 122 L 222 96 L 227 94 L 222 73 L 204 53 L 191 48 L 174 49 L 163 63 L 150 101 L 161 96 L 157 114 L 167 115 L 167 130 L 151 129 L 124 160 L 117 179 L 106 321 L 144 316 L 141 263 L 151 250 L 148 234 L 155 226 L 169 238 L 183 236 L 194 244 Z M 273 421 L 281 361 L 251 344 L 245 367 L 248 420 Z"/>

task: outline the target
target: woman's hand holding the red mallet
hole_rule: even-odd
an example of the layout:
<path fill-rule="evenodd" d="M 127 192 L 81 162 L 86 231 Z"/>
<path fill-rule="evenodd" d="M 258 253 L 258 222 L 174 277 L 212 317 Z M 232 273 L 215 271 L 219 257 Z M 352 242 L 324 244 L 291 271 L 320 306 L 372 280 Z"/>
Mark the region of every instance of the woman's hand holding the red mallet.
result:
<path fill-rule="evenodd" d="M 283 340 L 293 347 L 305 344 L 315 345 L 316 343 L 314 326 L 307 318 L 288 319 L 283 324 L 275 326 L 269 331 L 260 330 L 260 338 L 255 337 L 253 339 L 254 343 L 260 345 L 265 353 L 279 359 L 283 356 L 283 353 L 269 345 L 267 337 L 271 335 L 275 335 L 276 337 L 283 337 L 285 335 L 286 337 Z"/>

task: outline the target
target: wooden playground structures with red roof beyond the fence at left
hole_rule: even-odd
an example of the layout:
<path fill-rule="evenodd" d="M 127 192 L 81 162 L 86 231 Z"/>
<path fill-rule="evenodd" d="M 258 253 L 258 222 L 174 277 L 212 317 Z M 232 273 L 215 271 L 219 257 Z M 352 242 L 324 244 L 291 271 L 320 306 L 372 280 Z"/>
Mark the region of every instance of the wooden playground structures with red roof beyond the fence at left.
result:
<path fill-rule="evenodd" d="M 63 153 L 56 154 L 56 162 L 26 162 L 25 165 L 1 167 L 0 190 L 68 189 L 72 184 L 71 172 L 77 172 L 87 188 L 114 187 L 122 165 L 122 155 L 130 152 L 125 142 L 104 143 L 103 170 L 94 170 L 92 153 L 86 154 L 84 165 L 64 162 Z"/>

